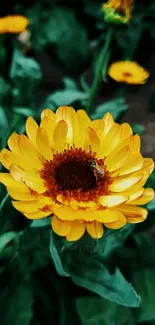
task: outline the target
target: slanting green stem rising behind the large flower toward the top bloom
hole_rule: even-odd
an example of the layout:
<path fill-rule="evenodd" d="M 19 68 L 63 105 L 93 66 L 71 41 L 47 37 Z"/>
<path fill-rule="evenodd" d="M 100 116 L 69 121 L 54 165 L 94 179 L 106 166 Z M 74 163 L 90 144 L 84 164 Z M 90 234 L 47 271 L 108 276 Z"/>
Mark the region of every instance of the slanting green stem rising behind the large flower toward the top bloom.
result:
<path fill-rule="evenodd" d="M 112 30 L 109 29 L 106 34 L 106 40 L 104 43 L 103 48 L 101 49 L 101 52 L 99 54 L 99 59 L 97 62 L 97 68 L 96 68 L 96 73 L 95 73 L 95 78 L 92 84 L 92 87 L 90 89 L 90 94 L 89 94 L 89 100 L 88 100 L 88 108 L 87 108 L 87 113 L 91 114 L 92 109 L 93 109 L 93 104 L 97 95 L 97 90 L 101 81 L 101 74 L 102 74 L 102 79 L 106 76 L 107 72 L 107 66 L 110 58 L 110 51 L 109 51 L 109 45 L 112 39 Z"/>

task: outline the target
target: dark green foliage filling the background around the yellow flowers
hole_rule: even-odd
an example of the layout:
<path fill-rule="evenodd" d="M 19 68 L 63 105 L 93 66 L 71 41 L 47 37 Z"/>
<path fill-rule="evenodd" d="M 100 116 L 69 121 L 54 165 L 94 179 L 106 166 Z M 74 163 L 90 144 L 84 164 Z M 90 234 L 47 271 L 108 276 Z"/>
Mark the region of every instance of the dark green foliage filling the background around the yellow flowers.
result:
<path fill-rule="evenodd" d="M 130 110 L 130 93 L 137 96 L 140 86 L 112 81 L 109 62 L 134 60 L 153 75 L 154 0 L 135 0 L 132 19 L 123 25 L 105 21 L 106 0 L 15 2 L 8 14 L 13 10 L 29 18 L 30 46 L 17 35 L 0 35 L 0 150 L 12 132 L 25 132 L 28 116 L 39 122 L 46 107 L 73 105 L 92 119 L 110 112 L 120 122 Z M 44 55 L 49 63 L 42 62 Z M 153 88 L 146 102 L 154 114 Z M 141 121 L 133 114 L 134 134 L 146 131 Z M 146 186 L 155 189 L 154 171 Z M 52 232 L 50 217 L 31 221 L 16 211 L 0 184 L 0 324 L 154 325 L 155 199 L 146 208 L 142 224 L 70 243 Z"/>

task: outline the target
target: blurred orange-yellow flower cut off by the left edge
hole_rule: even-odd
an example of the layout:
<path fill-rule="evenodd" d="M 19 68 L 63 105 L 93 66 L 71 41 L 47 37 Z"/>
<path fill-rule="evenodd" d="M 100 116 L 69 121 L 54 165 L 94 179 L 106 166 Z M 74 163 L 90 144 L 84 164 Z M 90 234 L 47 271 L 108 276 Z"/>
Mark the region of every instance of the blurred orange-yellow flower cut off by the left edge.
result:
<path fill-rule="evenodd" d="M 21 33 L 29 24 L 29 20 L 20 15 L 0 18 L 0 34 Z"/>

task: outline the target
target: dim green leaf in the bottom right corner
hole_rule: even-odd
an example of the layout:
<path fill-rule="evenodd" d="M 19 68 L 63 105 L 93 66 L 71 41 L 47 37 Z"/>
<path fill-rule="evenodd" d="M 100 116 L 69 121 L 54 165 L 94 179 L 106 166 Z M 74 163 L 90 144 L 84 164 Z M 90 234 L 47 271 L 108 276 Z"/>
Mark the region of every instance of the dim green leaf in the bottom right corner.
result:
<path fill-rule="evenodd" d="M 134 271 L 133 284 L 141 297 L 140 307 L 135 311 L 136 321 L 155 320 L 155 269 Z"/>

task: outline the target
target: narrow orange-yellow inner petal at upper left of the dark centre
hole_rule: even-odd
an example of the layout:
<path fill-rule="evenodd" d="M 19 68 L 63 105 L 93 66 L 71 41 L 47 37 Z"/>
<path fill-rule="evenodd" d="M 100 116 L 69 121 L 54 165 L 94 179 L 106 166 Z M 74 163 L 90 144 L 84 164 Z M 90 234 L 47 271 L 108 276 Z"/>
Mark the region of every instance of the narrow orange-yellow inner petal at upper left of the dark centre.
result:
<path fill-rule="evenodd" d="M 38 128 L 36 144 L 44 158 L 47 160 L 51 160 L 53 158 L 49 137 L 45 129 Z"/>

